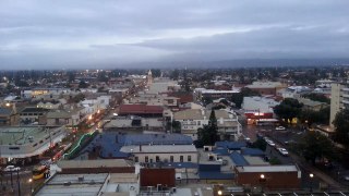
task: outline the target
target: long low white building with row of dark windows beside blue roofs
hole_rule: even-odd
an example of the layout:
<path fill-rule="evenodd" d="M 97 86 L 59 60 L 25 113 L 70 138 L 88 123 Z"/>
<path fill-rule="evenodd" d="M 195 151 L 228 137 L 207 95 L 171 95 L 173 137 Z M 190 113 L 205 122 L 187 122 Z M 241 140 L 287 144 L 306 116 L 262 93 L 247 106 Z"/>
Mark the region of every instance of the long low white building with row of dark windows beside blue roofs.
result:
<path fill-rule="evenodd" d="M 197 163 L 194 145 L 123 146 L 120 151 L 132 154 L 135 162 L 193 162 Z"/>

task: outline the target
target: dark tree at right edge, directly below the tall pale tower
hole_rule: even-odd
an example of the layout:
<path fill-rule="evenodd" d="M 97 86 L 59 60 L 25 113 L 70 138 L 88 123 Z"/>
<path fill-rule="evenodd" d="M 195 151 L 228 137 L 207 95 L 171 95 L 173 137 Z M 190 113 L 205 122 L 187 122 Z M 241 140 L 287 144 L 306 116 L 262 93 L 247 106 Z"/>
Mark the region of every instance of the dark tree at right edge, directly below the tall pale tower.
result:
<path fill-rule="evenodd" d="M 349 109 L 339 111 L 333 124 L 335 125 L 333 139 L 349 148 Z"/>

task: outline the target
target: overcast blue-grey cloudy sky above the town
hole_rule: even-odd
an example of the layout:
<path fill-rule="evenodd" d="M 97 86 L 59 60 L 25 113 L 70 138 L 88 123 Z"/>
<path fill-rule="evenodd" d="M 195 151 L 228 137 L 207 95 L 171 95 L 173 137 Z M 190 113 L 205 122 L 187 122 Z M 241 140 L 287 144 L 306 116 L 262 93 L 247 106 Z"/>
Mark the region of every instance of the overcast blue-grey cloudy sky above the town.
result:
<path fill-rule="evenodd" d="M 348 0 L 0 0 L 0 70 L 349 58 Z"/>

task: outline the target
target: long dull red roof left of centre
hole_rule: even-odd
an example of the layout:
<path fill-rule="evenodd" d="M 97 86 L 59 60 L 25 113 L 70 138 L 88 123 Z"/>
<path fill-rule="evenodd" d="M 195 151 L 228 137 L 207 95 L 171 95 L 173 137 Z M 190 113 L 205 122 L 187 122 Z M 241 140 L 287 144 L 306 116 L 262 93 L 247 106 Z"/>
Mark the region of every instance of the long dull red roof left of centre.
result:
<path fill-rule="evenodd" d="M 137 113 L 163 113 L 164 108 L 159 106 L 146 105 L 121 105 L 120 114 L 137 114 Z"/>

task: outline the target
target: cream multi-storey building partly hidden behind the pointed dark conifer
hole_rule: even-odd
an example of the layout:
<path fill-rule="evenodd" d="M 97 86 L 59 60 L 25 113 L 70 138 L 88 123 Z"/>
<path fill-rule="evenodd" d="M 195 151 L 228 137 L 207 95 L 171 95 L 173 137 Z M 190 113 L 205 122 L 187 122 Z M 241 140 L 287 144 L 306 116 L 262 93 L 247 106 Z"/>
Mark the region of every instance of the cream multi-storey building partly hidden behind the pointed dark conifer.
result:
<path fill-rule="evenodd" d="M 238 139 L 241 136 L 241 124 L 234 113 L 225 110 L 215 110 L 218 121 L 218 133 L 221 139 Z M 181 132 L 184 135 L 197 139 L 197 128 L 208 124 L 210 110 L 189 109 L 176 112 L 174 121 L 181 123 Z"/>

